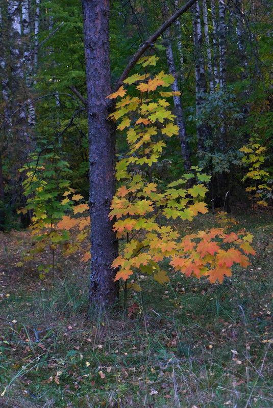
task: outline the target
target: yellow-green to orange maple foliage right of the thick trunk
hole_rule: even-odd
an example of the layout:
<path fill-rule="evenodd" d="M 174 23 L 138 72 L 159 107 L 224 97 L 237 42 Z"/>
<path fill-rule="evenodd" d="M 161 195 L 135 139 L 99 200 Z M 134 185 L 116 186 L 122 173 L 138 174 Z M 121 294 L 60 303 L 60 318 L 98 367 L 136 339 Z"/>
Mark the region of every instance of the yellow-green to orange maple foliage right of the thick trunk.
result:
<path fill-rule="evenodd" d="M 148 59 L 143 61 L 148 63 Z M 155 63 L 154 59 L 151 61 Z M 125 83 L 136 84 L 138 97 L 130 97 L 123 86 L 109 96 L 120 97 L 110 118 L 118 121 L 120 131 L 126 132 L 128 144 L 127 156 L 117 162 L 116 178 L 121 185 L 109 214 L 116 220 L 114 230 L 123 242 L 120 255 L 112 264 L 118 269 L 115 280 L 127 280 L 140 270 L 164 284 L 169 278 L 161 270 L 160 262 L 168 258 L 173 268 L 186 276 L 207 276 L 210 282 L 222 282 L 224 276 L 231 275 L 234 263 L 249 265 L 246 255 L 255 254 L 250 245 L 252 235 L 214 228 L 181 237 L 175 227 L 159 223 L 162 216 L 191 221 L 197 213 L 205 214 L 206 183 L 210 177 L 195 166 L 192 173 L 173 181 L 165 191 L 159 191 L 157 183 L 146 180 L 146 170 L 159 159 L 164 139 L 179 132 L 166 99 L 177 93 L 159 90 L 172 81 L 173 77 L 163 71 L 154 78 L 134 74 Z"/>

